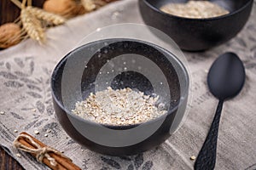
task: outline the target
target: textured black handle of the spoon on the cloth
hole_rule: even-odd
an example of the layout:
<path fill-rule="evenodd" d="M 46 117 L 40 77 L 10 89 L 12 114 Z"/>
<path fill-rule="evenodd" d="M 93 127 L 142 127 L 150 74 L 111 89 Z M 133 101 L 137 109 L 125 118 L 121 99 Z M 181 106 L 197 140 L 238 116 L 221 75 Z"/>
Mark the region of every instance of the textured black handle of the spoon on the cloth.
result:
<path fill-rule="evenodd" d="M 224 100 L 219 100 L 212 126 L 207 134 L 207 139 L 201 147 L 201 150 L 195 161 L 195 170 L 213 170 L 216 161 L 216 149 L 218 139 L 218 124 L 221 116 Z"/>

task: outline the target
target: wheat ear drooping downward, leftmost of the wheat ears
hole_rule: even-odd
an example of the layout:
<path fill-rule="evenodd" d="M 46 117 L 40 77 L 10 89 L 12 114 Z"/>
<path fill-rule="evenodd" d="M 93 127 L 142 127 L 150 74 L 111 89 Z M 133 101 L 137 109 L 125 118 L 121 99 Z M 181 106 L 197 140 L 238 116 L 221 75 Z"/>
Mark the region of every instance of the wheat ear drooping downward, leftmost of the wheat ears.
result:
<path fill-rule="evenodd" d="M 22 8 L 20 20 L 27 35 L 38 42 L 44 42 L 44 29 L 40 20 L 34 14 L 31 14 L 28 8 Z"/>

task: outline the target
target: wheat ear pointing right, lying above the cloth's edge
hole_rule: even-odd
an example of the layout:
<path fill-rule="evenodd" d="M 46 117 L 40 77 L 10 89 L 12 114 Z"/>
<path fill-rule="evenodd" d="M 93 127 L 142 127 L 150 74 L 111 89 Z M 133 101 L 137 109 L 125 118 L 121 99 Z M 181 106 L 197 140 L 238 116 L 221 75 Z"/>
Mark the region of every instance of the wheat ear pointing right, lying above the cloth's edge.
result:
<path fill-rule="evenodd" d="M 36 16 L 39 20 L 45 20 L 54 25 L 61 25 L 65 22 L 64 17 L 58 14 L 52 14 L 44 11 L 44 9 L 28 6 L 26 10 Z"/>

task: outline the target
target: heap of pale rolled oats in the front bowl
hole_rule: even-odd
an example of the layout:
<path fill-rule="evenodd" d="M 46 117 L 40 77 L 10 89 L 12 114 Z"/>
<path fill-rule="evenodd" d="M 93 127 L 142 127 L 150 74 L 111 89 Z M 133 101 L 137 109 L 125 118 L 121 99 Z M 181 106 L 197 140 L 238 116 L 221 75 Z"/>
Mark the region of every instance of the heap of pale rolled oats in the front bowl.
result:
<path fill-rule="evenodd" d="M 159 96 L 145 95 L 131 88 L 106 90 L 90 94 L 84 101 L 78 101 L 74 114 L 86 120 L 108 125 L 131 125 L 147 122 L 164 115 L 164 104 L 156 106 Z"/>

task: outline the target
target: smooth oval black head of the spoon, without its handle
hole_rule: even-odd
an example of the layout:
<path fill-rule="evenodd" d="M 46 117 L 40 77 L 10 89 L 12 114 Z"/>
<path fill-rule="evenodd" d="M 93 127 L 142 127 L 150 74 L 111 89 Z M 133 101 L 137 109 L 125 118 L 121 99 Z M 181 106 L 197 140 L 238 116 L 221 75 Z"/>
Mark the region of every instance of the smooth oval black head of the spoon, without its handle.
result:
<path fill-rule="evenodd" d="M 211 93 L 218 99 L 230 99 L 239 94 L 245 82 L 245 69 L 234 53 L 222 54 L 214 61 L 207 77 Z"/>

